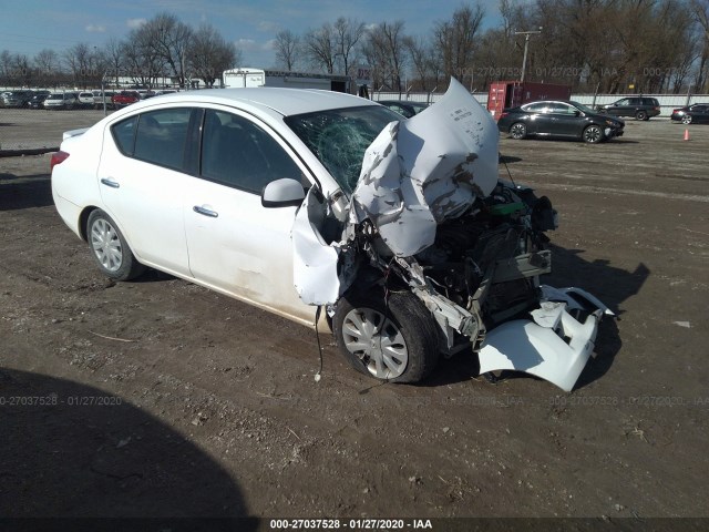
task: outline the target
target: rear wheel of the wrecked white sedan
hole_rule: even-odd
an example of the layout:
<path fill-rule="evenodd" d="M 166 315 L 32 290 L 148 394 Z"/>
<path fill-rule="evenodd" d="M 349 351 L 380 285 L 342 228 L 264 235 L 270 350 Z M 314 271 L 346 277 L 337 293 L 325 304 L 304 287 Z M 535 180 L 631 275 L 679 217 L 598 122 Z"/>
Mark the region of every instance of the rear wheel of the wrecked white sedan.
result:
<path fill-rule="evenodd" d="M 86 239 L 91 255 L 106 277 L 130 280 L 145 272 L 131 252 L 115 222 L 101 209 L 95 209 L 86 221 Z"/>

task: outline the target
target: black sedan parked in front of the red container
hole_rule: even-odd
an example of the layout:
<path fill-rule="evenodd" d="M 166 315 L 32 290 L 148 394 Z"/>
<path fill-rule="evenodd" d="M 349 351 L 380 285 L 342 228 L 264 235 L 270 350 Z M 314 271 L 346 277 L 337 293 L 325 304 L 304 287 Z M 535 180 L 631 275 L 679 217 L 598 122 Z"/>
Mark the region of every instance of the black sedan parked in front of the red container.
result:
<path fill-rule="evenodd" d="M 505 109 L 497 121 L 502 133 L 513 139 L 549 136 L 578 139 L 595 144 L 621 136 L 625 122 L 598 114 L 593 109 L 568 100 L 530 102 Z"/>

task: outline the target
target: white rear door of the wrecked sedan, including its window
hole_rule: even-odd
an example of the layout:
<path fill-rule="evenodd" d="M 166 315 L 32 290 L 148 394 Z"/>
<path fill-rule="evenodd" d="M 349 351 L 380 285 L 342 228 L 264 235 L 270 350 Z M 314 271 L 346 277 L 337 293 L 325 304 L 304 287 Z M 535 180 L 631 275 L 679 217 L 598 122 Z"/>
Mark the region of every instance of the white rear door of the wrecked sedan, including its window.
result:
<path fill-rule="evenodd" d="M 101 197 L 143 263 L 189 275 L 183 221 L 188 137 L 197 110 L 162 109 L 106 127 L 97 177 Z"/>

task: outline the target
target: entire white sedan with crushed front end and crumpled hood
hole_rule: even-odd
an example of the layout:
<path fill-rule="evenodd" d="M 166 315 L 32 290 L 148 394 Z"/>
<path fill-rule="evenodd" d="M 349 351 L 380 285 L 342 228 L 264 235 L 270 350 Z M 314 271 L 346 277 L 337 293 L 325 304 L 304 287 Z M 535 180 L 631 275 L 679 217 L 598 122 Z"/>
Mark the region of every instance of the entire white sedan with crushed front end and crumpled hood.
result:
<path fill-rule="evenodd" d="M 607 308 L 540 286 L 556 213 L 499 181 L 497 143 L 455 81 L 409 120 L 337 92 L 183 92 L 65 132 L 52 194 L 112 279 L 153 267 L 331 325 L 381 380 L 417 382 L 467 349 L 482 371 L 569 390 Z"/>

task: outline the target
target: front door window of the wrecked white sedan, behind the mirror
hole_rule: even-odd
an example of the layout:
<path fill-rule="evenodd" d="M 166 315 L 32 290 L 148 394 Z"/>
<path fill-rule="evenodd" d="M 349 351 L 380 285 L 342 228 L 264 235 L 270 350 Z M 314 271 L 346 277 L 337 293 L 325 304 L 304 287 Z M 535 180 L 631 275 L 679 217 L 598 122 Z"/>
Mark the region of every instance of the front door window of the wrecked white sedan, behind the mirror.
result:
<path fill-rule="evenodd" d="M 206 110 L 202 135 L 202 177 L 260 194 L 271 181 L 302 181 L 286 151 L 255 123 L 232 113 Z"/>

